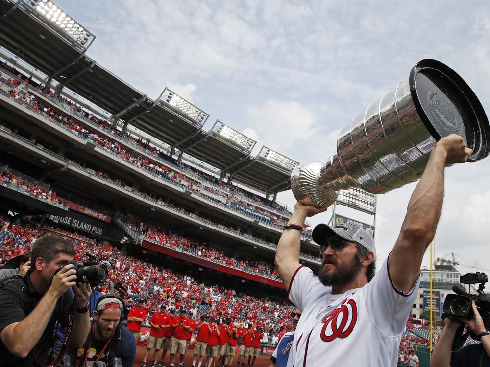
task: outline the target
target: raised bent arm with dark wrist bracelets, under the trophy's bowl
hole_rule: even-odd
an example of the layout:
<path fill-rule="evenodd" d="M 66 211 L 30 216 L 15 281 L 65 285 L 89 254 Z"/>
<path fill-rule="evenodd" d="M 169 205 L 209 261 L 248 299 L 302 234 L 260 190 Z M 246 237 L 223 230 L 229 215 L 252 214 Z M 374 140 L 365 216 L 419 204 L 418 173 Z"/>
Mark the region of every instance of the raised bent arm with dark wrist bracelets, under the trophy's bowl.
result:
<path fill-rule="evenodd" d="M 303 227 L 306 217 L 324 212 L 327 208 L 296 203 L 288 224 L 297 224 Z M 299 267 L 299 239 L 301 232 L 295 229 L 285 229 L 277 244 L 275 266 L 281 276 L 284 288 L 289 289 L 294 272 Z"/>

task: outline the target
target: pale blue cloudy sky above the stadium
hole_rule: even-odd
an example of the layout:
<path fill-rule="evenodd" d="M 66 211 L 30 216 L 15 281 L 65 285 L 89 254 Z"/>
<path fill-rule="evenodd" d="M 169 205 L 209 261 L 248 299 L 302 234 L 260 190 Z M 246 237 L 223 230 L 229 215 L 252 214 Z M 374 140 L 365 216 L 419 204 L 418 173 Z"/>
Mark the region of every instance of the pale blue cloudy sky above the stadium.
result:
<path fill-rule="evenodd" d="M 258 140 L 257 152 L 265 144 L 296 161 L 324 161 L 342 125 L 424 58 L 455 69 L 490 111 L 488 1 L 55 3 L 97 36 L 87 54 L 100 65 L 152 98 L 169 87 L 210 114 L 205 130 L 220 119 Z M 490 269 L 490 159 L 446 172 L 436 256 L 455 252 Z M 414 187 L 378 197 L 380 260 Z M 279 201 L 294 205 L 290 192 Z"/>

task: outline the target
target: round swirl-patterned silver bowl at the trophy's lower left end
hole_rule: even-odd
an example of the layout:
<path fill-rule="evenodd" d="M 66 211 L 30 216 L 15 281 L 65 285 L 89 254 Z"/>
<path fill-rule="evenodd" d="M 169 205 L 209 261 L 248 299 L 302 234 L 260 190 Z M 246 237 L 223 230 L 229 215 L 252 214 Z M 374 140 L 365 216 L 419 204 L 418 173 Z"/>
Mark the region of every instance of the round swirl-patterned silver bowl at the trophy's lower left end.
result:
<path fill-rule="evenodd" d="M 301 204 L 311 201 L 316 207 L 331 206 L 339 196 L 338 191 L 330 190 L 319 184 L 321 162 L 298 164 L 291 173 L 291 189 Z"/>

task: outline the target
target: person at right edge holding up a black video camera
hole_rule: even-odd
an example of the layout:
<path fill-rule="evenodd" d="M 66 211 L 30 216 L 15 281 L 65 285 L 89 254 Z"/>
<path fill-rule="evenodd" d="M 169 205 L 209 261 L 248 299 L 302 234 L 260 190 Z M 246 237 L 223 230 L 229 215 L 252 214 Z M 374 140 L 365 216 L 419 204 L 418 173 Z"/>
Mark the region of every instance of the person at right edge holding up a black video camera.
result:
<path fill-rule="evenodd" d="M 431 367 L 490 367 L 490 333 L 485 328 L 475 302 L 472 301 L 471 303 L 473 317 L 470 320 L 455 319 L 451 316 L 444 319 L 444 329 L 432 353 Z M 477 335 L 480 343 L 466 345 L 451 354 L 456 330 L 462 322 Z"/>

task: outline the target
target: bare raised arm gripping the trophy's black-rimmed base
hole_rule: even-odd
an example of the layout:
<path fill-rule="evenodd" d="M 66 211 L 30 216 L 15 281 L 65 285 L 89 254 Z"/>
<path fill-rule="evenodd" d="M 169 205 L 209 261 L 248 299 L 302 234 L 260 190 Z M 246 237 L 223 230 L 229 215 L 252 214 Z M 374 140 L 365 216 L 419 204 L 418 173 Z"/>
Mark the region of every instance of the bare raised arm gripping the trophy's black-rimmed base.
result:
<path fill-rule="evenodd" d="M 407 294 L 414 287 L 425 249 L 436 234 L 444 198 L 444 168 L 466 162 L 471 153 L 463 138 L 455 134 L 439 140 L 432 150 L 390 254 L 390 277 L 398 291 Z"/>

